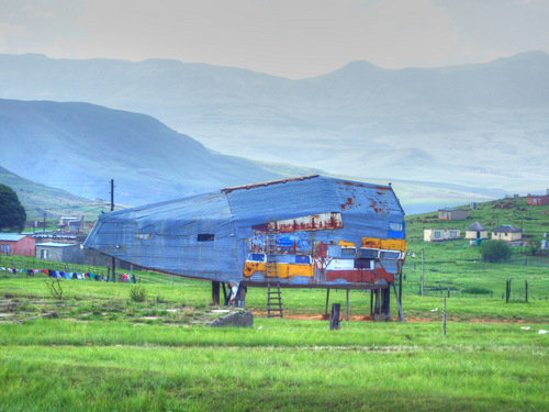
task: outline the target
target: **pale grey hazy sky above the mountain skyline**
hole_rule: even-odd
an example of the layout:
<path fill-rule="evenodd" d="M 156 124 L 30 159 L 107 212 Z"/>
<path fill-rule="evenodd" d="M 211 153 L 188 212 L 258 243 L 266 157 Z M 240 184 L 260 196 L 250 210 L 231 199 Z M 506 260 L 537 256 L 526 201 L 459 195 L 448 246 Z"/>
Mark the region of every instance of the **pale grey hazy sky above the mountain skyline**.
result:
<path fill-rule="evenodd" d="M 549 0 L 0 0 L 0 53 L 172 58 L 290 78 L 549 53 Z"/>

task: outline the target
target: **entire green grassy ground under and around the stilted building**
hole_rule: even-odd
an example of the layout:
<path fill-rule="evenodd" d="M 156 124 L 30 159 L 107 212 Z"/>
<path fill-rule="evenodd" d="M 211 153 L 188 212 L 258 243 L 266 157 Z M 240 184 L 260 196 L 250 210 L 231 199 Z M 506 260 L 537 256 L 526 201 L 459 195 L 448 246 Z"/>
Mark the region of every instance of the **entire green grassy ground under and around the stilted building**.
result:
<path fill-rule="evenodd" d="M 137 272 L 147 299 L 135 302 L 130 283 L 61 280 L 55 299 L 44 275 L 0 271 L 0 411 L 547 411 L 549 256 L 516 248 L 488 264 L 468 241 L 422 241 L 424 227 L 464 233 L 477 220 L 541 238 L 549 209 L 523 203 L 482 203 L 464 222 L 408 218 L 406 323 L 394 296 L 394 321 L 371 322 L 370 292 L 351 291 L 351 321 L 329 331 L 318 289 L 283 289 L 285 318 L 267 319 L 266 290 L 250 288 L 254 327 L 213 329 L 205 322 L 223 308 L 211 305 L 209 282 Z M 0 259 L 12 265 L 64 269 Z M 330 291 L 344 318 L 345 302 Z"/>

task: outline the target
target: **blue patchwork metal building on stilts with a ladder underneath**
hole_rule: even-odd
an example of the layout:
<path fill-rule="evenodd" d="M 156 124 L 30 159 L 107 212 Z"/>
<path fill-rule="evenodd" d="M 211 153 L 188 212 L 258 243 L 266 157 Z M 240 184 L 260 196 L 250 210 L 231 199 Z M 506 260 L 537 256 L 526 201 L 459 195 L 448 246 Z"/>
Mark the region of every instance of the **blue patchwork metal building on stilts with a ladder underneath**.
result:
<path fill-rule="evenodd" d="M 85 247 L 210 280 L 214 301 L 220 286 L 236 305 L 248 287 L 267 288 L 269 316 L 283 316 L 284 288 L 372 290 L 389 316 L 406 241 L 391 185 L 313 175 L 105 213 Z"/>

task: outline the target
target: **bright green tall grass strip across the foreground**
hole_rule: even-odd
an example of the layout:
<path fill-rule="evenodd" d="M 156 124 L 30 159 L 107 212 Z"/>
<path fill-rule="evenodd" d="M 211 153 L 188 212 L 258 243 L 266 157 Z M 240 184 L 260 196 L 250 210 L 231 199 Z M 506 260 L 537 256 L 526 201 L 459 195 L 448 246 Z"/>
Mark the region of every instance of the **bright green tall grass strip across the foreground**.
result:
<path fill-rule="evenodd" d="M 31 342 L 47 326 L 70 337 Z M 22 333 L 27 345 L 18 338 L 0 345 L 0 409 L 549 408 L 547 339 L 516 325 L 459 325 L 446 338 L 430 324 L 399 323 L 338 332 L 274 320 L 264 320 L 261 330 L 82 326 L 37 321 L 5 331 L 15 337 L 30 330 Z"/>

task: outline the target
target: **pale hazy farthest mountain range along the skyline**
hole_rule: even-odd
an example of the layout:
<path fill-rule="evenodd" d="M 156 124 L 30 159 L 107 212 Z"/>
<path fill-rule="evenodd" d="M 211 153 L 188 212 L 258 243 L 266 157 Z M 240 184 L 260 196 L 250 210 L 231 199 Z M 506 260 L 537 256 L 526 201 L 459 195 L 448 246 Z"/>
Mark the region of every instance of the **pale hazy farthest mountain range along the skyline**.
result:
<path fill-rule="evenodd" d="M 429 69 L 355 62 L 302 80 L 176 60 L 0 55 L 0 96 L 142 112 L 225 155 L 366 180 L 505 192 L 548 186 L 541 52 Z"/>

